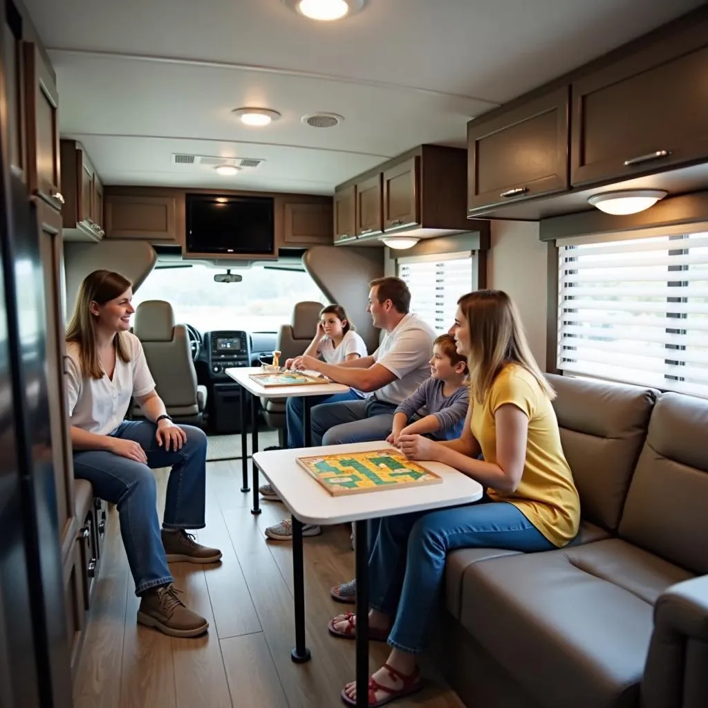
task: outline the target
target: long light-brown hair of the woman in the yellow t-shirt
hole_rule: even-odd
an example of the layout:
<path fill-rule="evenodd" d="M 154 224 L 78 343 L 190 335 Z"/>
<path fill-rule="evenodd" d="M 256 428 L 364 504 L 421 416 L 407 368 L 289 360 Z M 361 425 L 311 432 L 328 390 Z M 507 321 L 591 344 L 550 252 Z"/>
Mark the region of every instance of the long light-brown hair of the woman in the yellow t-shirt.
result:
<path fill-rule="evenodd" d="M 492 384 L 510 363 L 518 364 L 538 382 L 549 399 L 556 392 L 539 369 L 526 340 L 515 304 L 502 290 L 476 290 L 458 301 L 469 327 L 470 395 L 479 404 L 489 396 Z"/>

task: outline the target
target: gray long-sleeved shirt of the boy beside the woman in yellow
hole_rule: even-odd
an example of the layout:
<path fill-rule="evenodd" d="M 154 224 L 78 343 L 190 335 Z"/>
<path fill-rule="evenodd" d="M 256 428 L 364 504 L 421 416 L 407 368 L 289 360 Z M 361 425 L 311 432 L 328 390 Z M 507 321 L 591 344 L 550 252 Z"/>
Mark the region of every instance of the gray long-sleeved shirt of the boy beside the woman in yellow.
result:
<path fill-rule="evenodd" d="M 433 437 L 438 440 L 459 438 L 462 435 L 464 417 L 467 416 L 469 392 L 467 386 L 462 386 L 451 396 L 445 396 L 442 393 L 443 387 L 445 383 L 440 379 L 424 381 L 413 395 L 396 408 L 394 413 L 404 413 L 409 423 L 416 413 L 419 418 L 435 416 L 440 423 L 440 430 L 436 430 Z"/>

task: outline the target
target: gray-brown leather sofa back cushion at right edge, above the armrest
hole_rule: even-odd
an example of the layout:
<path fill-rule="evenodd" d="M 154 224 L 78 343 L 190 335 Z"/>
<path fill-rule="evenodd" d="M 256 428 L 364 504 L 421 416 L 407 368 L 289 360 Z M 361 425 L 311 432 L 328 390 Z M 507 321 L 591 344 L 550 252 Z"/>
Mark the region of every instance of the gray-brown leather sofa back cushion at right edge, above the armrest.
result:
<path fill-rule="evenodd" d="M 619 535 L 708 573 L 708 401 L 661 394 L 629 487 Z"/>

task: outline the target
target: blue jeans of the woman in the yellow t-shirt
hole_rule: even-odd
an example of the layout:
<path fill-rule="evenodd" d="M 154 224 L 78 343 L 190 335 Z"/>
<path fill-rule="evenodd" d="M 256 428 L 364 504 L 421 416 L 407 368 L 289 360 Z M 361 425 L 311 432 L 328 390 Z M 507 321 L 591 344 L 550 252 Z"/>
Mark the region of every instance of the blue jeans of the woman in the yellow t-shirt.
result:
<path fill-rule="evenodd" d="M 445 559 L 459 548 L 555 548 L 513 504 L 486 502 L 383 518 L 369 560 L 370 605 L 395 617 L 394 649 L 420 653 L 440 602 Z"/>

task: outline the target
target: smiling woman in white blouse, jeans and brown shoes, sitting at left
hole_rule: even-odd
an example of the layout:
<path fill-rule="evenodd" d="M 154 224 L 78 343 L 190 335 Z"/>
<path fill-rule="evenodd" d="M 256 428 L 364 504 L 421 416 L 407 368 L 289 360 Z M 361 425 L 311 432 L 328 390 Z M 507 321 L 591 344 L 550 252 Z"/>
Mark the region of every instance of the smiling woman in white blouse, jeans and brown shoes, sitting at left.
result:
<path fill-rule="evenodd" d="M 119 273 L 86 276 L 67 329 L 67 396 L 74 476 L 118 506 L 120 534 L 141 598 L 137 621 L 171 636 L 199 636 L 209 624 L 188 610 L 167 564 L 214 563 L 221 552 L 185 529 L 204 527 L 207 439 L 176 426 L 155 391 L 139 339 L 128 331 L 132 284 Z M 125 421 L 131 396 L 144 421 Z M 160 528 L 149 468 L 171 467 Z"/>

